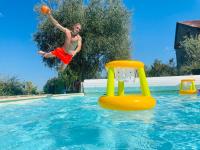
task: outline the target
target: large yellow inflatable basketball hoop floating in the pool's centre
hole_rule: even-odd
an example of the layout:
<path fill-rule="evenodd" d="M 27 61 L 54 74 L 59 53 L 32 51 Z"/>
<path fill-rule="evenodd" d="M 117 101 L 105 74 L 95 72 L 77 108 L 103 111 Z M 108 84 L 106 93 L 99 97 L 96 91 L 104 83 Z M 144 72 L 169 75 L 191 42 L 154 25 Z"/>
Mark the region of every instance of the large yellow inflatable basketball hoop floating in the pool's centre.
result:
<path fill-rule="evenodd" d="M 112 110 L 146 110 L 155 107 L 156 100 L 151 96 L 145 71 L 144 64 L 139 61 L 122 60 L 112 61 L 106 64 L 108 71 L 106 96 L 99 98 L 99 104 L 103 108 Z M 124 95 L 124 80 L 134 76 L 137 70 L 141 95 Z M 118 94 L 114 95 L 114 80 L 118 80 Z"/>

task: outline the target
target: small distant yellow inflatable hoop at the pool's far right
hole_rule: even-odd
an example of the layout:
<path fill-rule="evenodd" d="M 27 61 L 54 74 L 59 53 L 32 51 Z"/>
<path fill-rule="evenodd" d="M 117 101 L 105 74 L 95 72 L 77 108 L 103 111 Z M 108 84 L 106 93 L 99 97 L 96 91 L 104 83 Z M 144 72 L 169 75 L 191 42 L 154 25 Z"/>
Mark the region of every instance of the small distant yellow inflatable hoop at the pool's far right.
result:
<path fill-rule="evenodd" d="M 197 94 L 194 79 L 183 79 L 180 84 L 180 94 Z"/>

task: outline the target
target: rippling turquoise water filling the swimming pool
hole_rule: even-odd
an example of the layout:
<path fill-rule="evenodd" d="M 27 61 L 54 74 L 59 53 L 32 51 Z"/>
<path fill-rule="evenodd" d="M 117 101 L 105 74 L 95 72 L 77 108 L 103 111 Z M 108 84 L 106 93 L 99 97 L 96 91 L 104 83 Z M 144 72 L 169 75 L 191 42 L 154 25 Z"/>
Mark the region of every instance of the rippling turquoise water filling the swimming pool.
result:
<path fill-rule="evenodd" d="M 200 149 L 200 96 L 154 93 L 155 109 L 121 112 L 100 95 L 0 104 L 0 150 Z"/>

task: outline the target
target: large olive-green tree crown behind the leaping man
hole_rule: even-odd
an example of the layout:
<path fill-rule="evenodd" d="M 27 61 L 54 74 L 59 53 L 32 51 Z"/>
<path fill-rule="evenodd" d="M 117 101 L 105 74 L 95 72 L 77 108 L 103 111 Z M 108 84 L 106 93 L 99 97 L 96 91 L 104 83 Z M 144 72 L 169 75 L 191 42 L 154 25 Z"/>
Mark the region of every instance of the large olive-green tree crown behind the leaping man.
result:
<path fill-rule="evenodd" d="M 82 50 L 59 76 L 65 80 L 65 86 L 72 86 L 77 79 L 98 77 L 108 61 L 130 58 L 131 13 L 122 0 L 90 0 L 87 5 L 82 0 L 63 0 L 56 8 L 53 16 L 61 25 L 68 28 L 77 22 L 82 25 Z M 41 18 L 34 35 L 38 48 L 49 52 L 62 46 L 64 33 L 48 19 Z M 53 68 L 59 65 L 57 59 L 43 59 L 43 62 Z"/>

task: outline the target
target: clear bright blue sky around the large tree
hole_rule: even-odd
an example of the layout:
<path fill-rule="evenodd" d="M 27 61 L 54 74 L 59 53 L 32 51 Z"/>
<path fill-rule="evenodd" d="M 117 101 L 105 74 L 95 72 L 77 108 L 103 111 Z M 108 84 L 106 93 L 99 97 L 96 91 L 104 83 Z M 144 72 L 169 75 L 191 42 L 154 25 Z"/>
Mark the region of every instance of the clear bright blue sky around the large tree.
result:
<path fill-rule="evenodd" d="M 57 75 L 45 67 L 37 55 L 32 35 L 37 30 L 38 0 L 0 0 L 0 76 L 17 76 L 33 81 L 40 89 Z M 158 58 L 175 58 L 174 37 L 177 21 L 199 20 L 200 0 L 124 0 L 133 12 L 132 58 L 151 65 Z"/>

